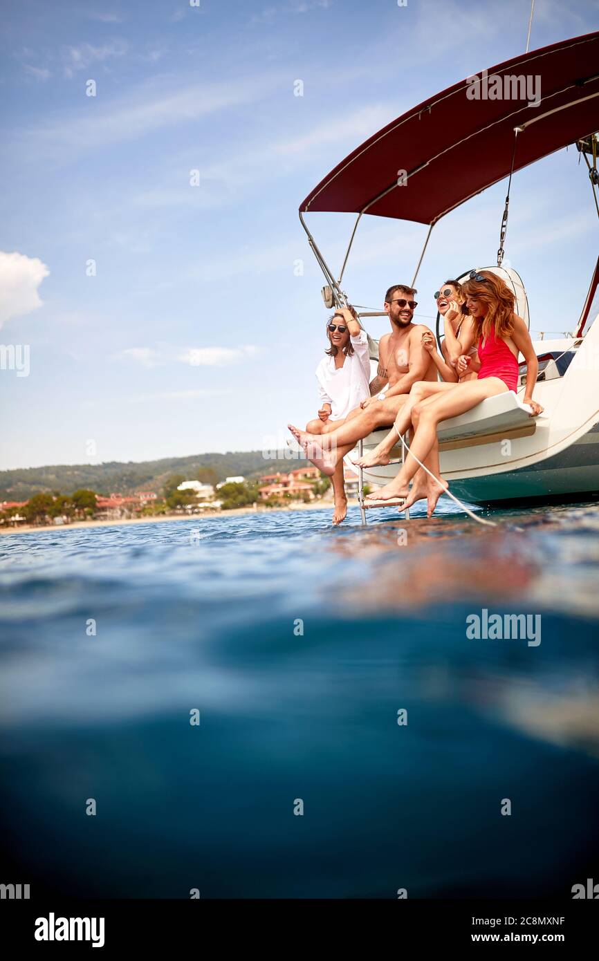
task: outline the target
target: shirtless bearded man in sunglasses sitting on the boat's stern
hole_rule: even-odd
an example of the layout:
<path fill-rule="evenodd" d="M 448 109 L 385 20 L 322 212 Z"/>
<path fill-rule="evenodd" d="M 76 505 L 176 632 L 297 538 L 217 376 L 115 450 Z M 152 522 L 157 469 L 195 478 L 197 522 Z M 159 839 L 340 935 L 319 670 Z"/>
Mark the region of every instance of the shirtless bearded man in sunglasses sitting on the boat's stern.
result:
<path fill-rule="evenodd" d="M 415 293 L 413 287 L 404 283 L 396 283 L 387 290 L 385 310 L 391 333 L 384 334 L 379 343 L 379 370 L 370 384 L 373 396 L 350 411 L 337 430 L 326 435 L 318 436 L 288 425 L 308 459 L 329 477 L 359 440 L 381 427 L 391 426 L 399 408 L 408 399 L 412 383 L 437 381 L 437 368 L 422 343 L 422 334 L 430 333 L 430 329 L 424 324 L 412 323 Z"/>

